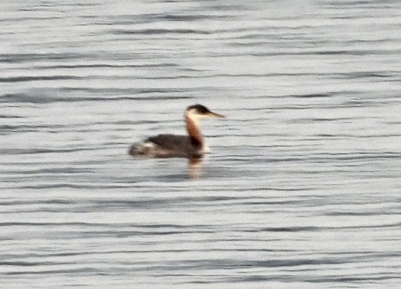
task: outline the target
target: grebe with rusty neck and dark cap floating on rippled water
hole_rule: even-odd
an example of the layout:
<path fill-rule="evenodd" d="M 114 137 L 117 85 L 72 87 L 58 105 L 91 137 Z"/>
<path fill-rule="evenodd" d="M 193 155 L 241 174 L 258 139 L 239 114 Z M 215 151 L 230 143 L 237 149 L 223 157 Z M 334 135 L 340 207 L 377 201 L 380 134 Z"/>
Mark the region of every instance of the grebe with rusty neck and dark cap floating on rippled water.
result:
<path fill-rule="evenodd" d="M 182 157 L 189 158 L 190 161 L 202 158 L 207 146 L 199 121 L 206 117 L 222 118 L 224 116 L 211 112 L 203 105 L 196 104 L 185 110 L 184 117 L 189 135 L 156 135 L 143 142 L 133 144 L 129 149 L 129 154 L 151 158 Z"/>

